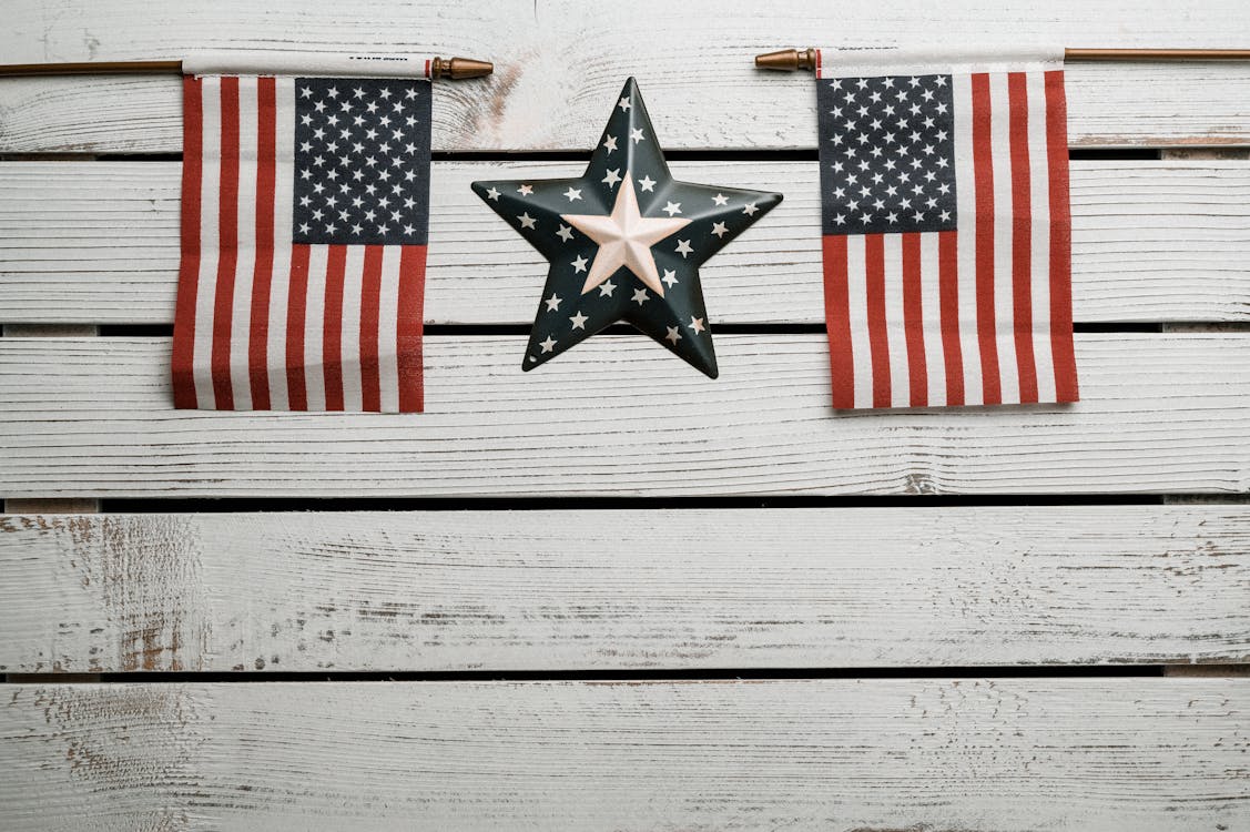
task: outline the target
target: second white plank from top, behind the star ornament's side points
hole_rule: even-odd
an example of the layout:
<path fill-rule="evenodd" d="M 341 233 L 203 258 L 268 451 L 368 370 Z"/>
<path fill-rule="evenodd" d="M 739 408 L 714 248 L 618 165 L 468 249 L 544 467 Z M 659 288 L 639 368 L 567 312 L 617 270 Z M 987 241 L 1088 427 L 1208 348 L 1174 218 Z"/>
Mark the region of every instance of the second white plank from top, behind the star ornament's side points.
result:
<path fill-rule="evenodd" d="M 435 163 L 426 323 L 534 319 L 541 256 L 474 179 L 581 163 Z M 678 176 L 786 199 L 702 269 L 720 323 L 824 323 L 816 164 L 684 161 Z M 0 164 L 0 319 L 172 323 L 178 163 Z M 1072 163 L 1078 322 L 1250 320 L 1250 164 Z"/>

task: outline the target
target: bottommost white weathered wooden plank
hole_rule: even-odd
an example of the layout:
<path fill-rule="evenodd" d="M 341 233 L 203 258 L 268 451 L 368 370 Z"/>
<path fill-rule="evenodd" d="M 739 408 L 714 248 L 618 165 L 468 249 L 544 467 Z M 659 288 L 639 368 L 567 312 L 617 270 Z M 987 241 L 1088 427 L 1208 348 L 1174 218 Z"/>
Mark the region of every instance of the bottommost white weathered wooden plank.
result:
<path fill-rule="evenodd" d="M 1239 829 L 1245 679 L 9 686 L 0 819 Z"/>

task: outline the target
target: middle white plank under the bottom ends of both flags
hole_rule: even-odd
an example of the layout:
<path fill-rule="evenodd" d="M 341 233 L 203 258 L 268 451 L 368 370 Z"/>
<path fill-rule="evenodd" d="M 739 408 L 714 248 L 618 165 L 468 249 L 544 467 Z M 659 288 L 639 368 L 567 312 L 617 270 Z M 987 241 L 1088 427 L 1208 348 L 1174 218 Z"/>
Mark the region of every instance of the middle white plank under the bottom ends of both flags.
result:
<path fill-rule="evenodd" d="M 426 339 L 425 414 L 174 410 L 168 339 L 0 339 L 0 494 L 1245 492 L 1250 337 L 1078 337 L 1071 407 L 830 409 L 822 335 L 719 335 L 706 379 L 640 335 L 521 373 L 521 337 Z"/>

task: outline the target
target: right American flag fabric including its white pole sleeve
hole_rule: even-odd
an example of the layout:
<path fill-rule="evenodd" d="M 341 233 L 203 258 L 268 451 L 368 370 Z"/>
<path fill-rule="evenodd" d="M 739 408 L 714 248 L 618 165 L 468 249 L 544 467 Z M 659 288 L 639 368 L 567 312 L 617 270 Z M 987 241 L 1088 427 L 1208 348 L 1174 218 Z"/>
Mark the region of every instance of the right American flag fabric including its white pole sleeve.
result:
<path fill-rule="evenodd" d="M 835 408 L 1075 402 L 1062 51 L 818 51 Z"/>

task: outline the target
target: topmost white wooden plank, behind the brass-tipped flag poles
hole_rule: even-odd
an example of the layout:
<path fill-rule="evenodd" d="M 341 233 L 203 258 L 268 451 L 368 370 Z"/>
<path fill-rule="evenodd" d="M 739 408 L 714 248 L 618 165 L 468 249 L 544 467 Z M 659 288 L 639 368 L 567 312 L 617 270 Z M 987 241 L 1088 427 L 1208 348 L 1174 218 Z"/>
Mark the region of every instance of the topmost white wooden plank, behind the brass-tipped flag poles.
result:
<path fill-rule="evenodd" d="M 10 0 L 0 55 L 12 63 L 176 59 L 190 49 L 459 54 L 495 61 L 484 81 L 440 84 L 440 150 L 584 149 L 621 83 L 636 75 L 670 148 L 812 148 L 811 76 L 761 73 L 752 56 L 791 45 L 934 43 L 1079 46 L 1244 46 L 1250 8 L 1191 13 L 1168 0 L 940 6 L 850 0 L 672 4 L 511 0 L 481 10 L 420 0 L 310 5 L 230 0 Z M 661 26 L 656 21 L 662 20 Z M 1250 143 L 1245 63 L 1072 64 L 1070 138 L 1081 146 Z M 0 153 L 176 153 L 172 78 L 0 83 Z"/>

